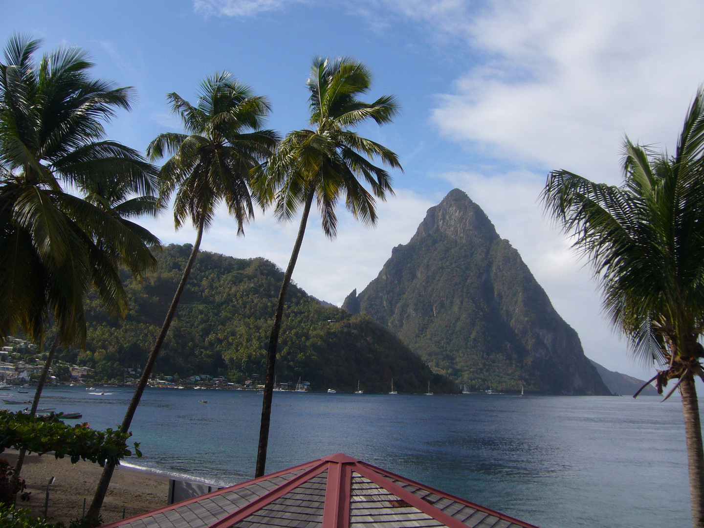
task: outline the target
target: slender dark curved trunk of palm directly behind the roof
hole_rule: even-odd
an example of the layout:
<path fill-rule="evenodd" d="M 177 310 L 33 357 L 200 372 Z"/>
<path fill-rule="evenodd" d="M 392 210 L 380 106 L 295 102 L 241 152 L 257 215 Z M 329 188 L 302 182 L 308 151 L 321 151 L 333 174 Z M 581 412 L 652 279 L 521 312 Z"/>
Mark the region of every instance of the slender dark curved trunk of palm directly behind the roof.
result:
<path fill-rule="evenodd" d="M 261 477 L 264 474 L 266 467 L 266 451 L 269 444 L 269 424 L 271 422 L 271 401 L 274 396 L 274 370 L 276 366 L 276 348 L 279 344 L 279 330 L 281 329 L 281 320 L 284 315 L 284 303 L 286 303 L 286 295 L 291 284 L 291 275 L 294 274 L 296 268 L 296 260 L 298 260 L 298 251 L 301 251 L 301 243 L 303 242 L 303 234 L 306 233 L 306 224 L 308 223 L 308 214 L 310 206 L 313 204 L 313 196 L 315 189 L 308 191 L 306 196 L 306 206 L 303 208 L 303 217 L 301 225 L 298 227 L 298 236 L 294 244 L 294 251 L 291 252 L 291 260 L 284 273 L 284 282 L 281 284 L 279 291 L 279 301 L 276 305 L 276 313 L 274 314 L 274 324 L 271 328 L 271 336 L 269 337 L 269 351 L 266 357 L 266 378 L 264 382 L 264 398 L 262 401 L 262 417 L 259 429 L 259 445 L 257 447 L 257 465 L 254 471 L 254 478 Z"/>

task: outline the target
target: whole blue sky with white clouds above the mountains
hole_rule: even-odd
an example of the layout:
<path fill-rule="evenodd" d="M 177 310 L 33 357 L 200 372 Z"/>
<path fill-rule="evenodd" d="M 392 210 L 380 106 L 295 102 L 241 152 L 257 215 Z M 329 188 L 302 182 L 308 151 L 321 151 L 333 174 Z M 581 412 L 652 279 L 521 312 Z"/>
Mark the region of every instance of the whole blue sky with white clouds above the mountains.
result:
<path fill-rule="evenodd" d="M 394 124 L 365 127 L 398 153 L 396 196 L 367 230 L 341 215 L 328 241 L 311 219 L 294 280 L 340 304 L 363 289 L 406 244 L 430 206 L 454 187 L 482 206 L 522 254 L 555 308 L 579 332 L 587 356 L 643 377 L 604 322 L 588 269 L 542 215 L 537 196 L 551 169 L 619 180 L 624 133 L 674 149 L 704 82 L 704 5 L 699 1 L 173 0 L 4 2 L 0 37 L 15 31 L 45 49 L 80 46 L 96 76 L 134 86 L 139 99 L 109 134 L 144 149 L 175 130 L 165 94 L 194 100 L 206 75 L 228 70 L 267 95 L 270 127 L 306 125 L 313 56 L 348 55 L 375 74 L 369 98 L 392 93 Z M 165 215 L 145 220 L 168 242 L 194 232 Z M 225 213 L 203 247 L 287 263 L 296 225 L 258 215 L 237 238 Z"/>

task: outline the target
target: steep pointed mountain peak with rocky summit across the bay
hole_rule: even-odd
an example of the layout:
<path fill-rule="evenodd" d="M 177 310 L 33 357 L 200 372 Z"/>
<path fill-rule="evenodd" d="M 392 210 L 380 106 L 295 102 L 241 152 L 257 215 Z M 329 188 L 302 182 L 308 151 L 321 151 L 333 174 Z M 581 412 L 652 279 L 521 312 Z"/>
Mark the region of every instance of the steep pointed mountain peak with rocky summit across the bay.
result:
<path fill-rule="evenodd" d="M 386 325 L 470 389 L 610 394 L 577 332 L 460 189 L 430 208 L 410 242 L 343 306 Z"/>

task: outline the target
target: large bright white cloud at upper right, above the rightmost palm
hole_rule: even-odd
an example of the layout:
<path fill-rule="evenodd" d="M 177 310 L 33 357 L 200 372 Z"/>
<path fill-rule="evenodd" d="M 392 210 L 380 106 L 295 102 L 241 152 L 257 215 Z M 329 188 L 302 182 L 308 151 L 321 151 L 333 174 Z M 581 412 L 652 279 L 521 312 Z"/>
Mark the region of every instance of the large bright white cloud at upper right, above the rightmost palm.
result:
<path fill-rule="evenodd" d="M 474 18 L 432 5 L 413 13 L 486 55 L 439 96 L 434 122 L 521 165 L 615 180 L 624 133 L 672 148 L 704 80 L 698 1 L 501 0 Z"/>

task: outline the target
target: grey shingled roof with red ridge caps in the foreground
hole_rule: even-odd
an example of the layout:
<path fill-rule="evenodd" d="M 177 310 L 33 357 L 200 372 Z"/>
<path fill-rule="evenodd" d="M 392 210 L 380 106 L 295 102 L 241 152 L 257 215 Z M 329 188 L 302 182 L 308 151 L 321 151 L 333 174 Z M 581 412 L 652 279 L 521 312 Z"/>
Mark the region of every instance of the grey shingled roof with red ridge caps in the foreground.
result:
<path fill-rule="evenodd" d="M 536 528 L 337 453 L 103 528 Z"/>

